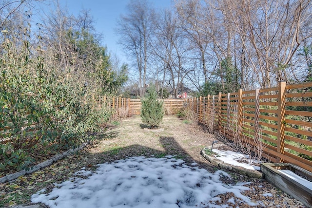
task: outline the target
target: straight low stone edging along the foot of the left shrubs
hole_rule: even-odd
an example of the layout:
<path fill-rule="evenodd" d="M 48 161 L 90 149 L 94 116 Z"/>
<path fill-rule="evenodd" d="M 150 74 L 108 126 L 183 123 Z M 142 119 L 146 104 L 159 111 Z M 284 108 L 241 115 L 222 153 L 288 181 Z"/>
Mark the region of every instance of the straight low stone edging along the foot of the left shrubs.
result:
<path fill-rule="evenodd" d="M 20 177 L 22 175 L 30 174 L 30 173 L 33 173 L 33 172 L 35 172 L 37 170 L 40 170 L 42 168 L 46 168 L 46 167 L 52 165 L 54 162 L 62 159 L 63 157 L 67 157 L 68 155 L 83 149 L 85 146 L 87 146 L 87 144 L 89 144 L 89 142 L 90 141 L 87 141 L 87 142 L 81 144 L 79 147 L 77 147 L 75 149 L 70 149 L 68 151 L 64 151 L 62 154 L 54 155 L 50 159 L 48 159 L 48 160 L 46 160 L 46 161 L 44 161 L 42 163 L 39 163 L 36 166 L 30 167 L 27 170 L 20 170 L 19 172 L 15 172 L 15 173 L 12 173 L 12 174 L 5 175 L 5 176 L 0 178 L 0 184 L 13 181 L 13 180 L 17 179 L 18 177 Z"/>

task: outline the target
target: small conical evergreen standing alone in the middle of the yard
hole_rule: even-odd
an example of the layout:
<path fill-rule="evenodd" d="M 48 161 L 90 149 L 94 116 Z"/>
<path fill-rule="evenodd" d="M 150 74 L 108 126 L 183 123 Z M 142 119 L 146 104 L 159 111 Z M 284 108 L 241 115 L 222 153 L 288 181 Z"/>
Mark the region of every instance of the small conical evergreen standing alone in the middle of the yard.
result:
<path fill-rule="evenodd" d="M 142 99 L 141 119 L 150 128 L 157 128 L 164 116 L 163 101 L 157 100 L 154 86 L 147 89 L 147 95 Z"/>

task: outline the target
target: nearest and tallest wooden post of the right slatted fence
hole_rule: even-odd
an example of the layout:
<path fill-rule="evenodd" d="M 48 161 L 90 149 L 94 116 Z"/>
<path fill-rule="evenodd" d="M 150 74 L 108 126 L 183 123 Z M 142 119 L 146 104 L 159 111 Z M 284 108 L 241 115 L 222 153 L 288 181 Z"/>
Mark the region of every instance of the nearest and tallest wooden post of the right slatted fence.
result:
<path fill-rule="evenodd" d="M 285 104 L 286 104 L 286 82 L 278 83 L 278 108 L 277 108 L 277 152 L 284 154 L 285 147 Z M 283 158 L 276 157 L 280 162 Z"/>

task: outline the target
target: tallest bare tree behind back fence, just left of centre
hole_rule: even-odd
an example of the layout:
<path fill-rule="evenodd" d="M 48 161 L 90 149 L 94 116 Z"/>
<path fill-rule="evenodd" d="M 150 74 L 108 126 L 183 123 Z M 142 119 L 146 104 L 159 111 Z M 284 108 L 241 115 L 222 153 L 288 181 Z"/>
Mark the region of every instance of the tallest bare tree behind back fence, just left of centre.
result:
<path fill-rule="evenodd" d="M 130 57 L 135 57 L 139 73 L 140 96 L 146 89 L 146 73 L 151 56 L 151 39 L 154 34 L 156 13 L 147 1 L 131 0 L 127 15 L 120 16 L 117 23 L 119 44 L 123 46 Z"/>

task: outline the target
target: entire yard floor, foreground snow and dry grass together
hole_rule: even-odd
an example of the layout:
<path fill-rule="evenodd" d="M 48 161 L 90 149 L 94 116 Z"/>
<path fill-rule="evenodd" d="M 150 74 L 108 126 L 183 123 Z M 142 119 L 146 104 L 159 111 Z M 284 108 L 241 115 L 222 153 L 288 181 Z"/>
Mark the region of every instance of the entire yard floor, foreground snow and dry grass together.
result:
<path fill-rule="evenodd" d="M 210 164 L 199 152 L 213 135 L 175 116 L 163 120 L 163 132 L 146 132 L 139 116 L 124 119 L 77 154 L 0 184 L 0 207 L 304 208 L 265 180 Z"/>

